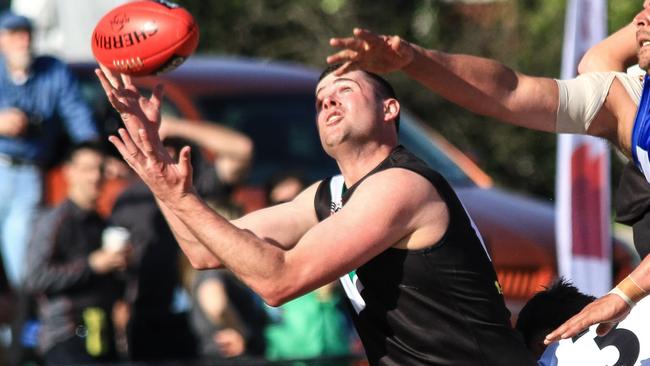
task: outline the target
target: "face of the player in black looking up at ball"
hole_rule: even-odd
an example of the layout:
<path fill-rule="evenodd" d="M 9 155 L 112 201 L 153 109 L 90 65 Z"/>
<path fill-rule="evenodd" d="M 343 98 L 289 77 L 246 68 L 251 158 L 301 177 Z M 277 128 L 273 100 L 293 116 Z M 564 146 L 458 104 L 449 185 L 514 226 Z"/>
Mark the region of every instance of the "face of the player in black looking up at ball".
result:
<path fill-rule="evenodd" d="M 362 71 L 327 75 L 316 87 L 316 119 L 321 143 L 328 148 L 370 137 L 381 121 L 374 84 Z"/>

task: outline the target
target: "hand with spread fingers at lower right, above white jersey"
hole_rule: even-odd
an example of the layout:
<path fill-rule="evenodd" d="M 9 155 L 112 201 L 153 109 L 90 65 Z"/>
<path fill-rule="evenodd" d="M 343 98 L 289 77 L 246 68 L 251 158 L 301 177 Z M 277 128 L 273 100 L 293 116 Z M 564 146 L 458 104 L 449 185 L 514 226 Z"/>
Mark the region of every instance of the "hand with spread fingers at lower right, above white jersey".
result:
<path fill-rule="evenodd" d="M 605 335 L 625 319 L 630 310 L 630 306 L 619 296 L 607 294 L 585 306 L 581 312 L 549 333 L 544 339 L 544 344 L 571 338 L 594 324 L 600 324 L 596 328 L 596 333 L 600 336 Z"/>

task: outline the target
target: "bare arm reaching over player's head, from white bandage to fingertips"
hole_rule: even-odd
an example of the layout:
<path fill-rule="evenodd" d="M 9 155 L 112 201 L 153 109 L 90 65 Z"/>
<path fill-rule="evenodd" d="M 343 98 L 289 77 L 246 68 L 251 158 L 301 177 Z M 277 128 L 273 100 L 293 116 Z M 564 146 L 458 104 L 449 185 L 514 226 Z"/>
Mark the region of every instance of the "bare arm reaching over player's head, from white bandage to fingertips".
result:
<path fill-rule="evenodd" d="M 427 50 L 397 36 L 354 29 L 333 38 L 341 50 L 327 58 L 376 73 L 403 71 L 440 96 L 472 112 L 526 128 L 554 132 L 558 86 L 549 78 L 530 77 L 494 60 Z"/>

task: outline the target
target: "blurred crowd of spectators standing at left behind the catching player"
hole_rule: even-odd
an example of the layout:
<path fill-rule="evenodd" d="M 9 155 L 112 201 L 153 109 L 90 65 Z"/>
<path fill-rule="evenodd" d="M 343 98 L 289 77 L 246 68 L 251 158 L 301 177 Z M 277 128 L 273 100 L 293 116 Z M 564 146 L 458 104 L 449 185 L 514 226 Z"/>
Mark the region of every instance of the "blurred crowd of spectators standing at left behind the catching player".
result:
<path fill-rule="evenodd" d="M 71 71 L 34 57 L 32 41 L 28 18 L 2 14 L 0 364 L 352 352 L 335 285 L 271 308 L 227 270 L 192 269 L 151 192 L 99 139 L 102 121 Z M 171 154 L 183 145 L 208 152 L 194 154 L 198 190 L 231 218 L 245 213 L 232 193 L 255 169 L 248 137 L 167 115 L 160 134 Z M 55 172 L 65 189 L 44 204 Z M 278 172 L 267 204 L 291 200 L 305 183 Z"/>

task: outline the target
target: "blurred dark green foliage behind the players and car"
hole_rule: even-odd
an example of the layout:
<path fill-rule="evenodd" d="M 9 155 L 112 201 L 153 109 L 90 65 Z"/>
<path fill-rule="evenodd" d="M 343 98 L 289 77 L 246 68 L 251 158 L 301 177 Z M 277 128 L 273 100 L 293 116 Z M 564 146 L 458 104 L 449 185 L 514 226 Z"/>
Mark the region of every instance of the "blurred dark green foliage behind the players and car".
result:
<path fill-rule="evenodd" d="M 178 0 L 201 29 L 199 52 L 289 60 L 323 67 L 328 40 L 353 27 L 398 34 L 428 48 L 495 58 L 532 75 L 560 73 L 566 0 Z M 609 29 L 641 8 L 609 2 Z M 478 117 L 403 75 L 389 75 L 403 104 L 476 157 L 498 185 L 552 197 L 555 135 Z M 616 160 L 616 159 L 615 159 Z M 618 169 L 614 167 L 614 169 Z"/>

